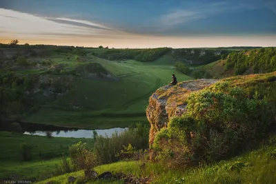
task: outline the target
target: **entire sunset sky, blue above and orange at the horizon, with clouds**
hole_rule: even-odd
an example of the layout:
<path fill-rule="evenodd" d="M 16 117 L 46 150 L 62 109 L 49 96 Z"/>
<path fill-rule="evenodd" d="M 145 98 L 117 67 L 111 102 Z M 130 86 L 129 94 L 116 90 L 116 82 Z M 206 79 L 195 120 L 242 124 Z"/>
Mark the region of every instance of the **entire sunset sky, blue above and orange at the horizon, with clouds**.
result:
<path fill-rule="evenodd" d="M 0 0 L 0 43 L 276 46 L 275 0 Z"/>

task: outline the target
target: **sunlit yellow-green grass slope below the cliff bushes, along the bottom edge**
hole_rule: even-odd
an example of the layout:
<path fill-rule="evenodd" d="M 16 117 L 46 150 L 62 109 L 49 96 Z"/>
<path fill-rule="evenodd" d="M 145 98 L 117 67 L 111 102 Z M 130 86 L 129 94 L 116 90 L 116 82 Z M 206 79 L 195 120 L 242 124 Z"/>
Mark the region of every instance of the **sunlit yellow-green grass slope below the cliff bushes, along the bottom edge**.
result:
<path fill-rule="evenodd" d="M 274 183 L 276 181 L 276 146 L 270 145 L 262 149 L 237 156 L 228 161 L 221 161 L 213 165 L 192 168 L 181 172 L 162 167 L 158 163 L 147 163 L 144 172 L 139 170 L 135 161 L 101 165 L 95 170 L 99 173 L 123 172 L 137 176 L 150 176 L 152 183 Z M 68 176 L 83 176 L 83 172 L 74 172 L 62 176 L 49 178 L 46 181 L 66 183 Z M 101 182 L 101 181 L 99 181 Z M 118 183 L 120 181 L 114 181 Z M 112 183 L 112 181 L 110 181 Z"/>

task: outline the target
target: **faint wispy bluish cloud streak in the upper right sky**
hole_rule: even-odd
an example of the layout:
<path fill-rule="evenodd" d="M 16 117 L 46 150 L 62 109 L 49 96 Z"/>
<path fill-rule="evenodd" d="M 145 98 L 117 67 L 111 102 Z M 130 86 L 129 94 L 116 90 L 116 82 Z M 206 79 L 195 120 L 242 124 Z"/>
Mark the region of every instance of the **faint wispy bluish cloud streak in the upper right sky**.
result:
<path fill-rule="evenodd" d="M 162 15 L 160 21 L 161 24 L 168 27 L 172 27 L 174 25 L 183 24 L 188 21 L 193 21 L 195 19 L 204 19 L 206 17 L 210 17 L 221 12 L 237 9 L 237 6 L 229 6 L 227 2 L 210 3 L 206 6 L 174 10 L 173 12 Z"/>

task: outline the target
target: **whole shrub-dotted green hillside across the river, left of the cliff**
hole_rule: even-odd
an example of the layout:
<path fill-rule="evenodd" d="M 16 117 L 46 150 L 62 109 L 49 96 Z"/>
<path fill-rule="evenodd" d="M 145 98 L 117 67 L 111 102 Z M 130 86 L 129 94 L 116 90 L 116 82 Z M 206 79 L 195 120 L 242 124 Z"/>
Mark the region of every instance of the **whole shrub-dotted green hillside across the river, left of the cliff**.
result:
<path fill-rule="evenodd" d="M 44 49 L 48 54 L 41 50 L 0 50 L 7 57 L 2 66 L 14 71 L 2 73 L 2 92 L 18 94 L 12 103 L 6 102 L 9 108 L 2 110 L 10 118 L 91 129 L 126 127 L 146 121 L 148 96 L 169 83 L 172 73 L 179 81 L 192 79 L 172 68 L 170 55 L 142 63 L 99 59 L 91 49 Z M 26 88 L 24 82 L 30 86 Z M 25 94 L 25 100 L 18 99 L 24 91 L 30 94 Z M 33 108 L 20 114 L 21 104 L 27 105 L 26 110 Z"/>

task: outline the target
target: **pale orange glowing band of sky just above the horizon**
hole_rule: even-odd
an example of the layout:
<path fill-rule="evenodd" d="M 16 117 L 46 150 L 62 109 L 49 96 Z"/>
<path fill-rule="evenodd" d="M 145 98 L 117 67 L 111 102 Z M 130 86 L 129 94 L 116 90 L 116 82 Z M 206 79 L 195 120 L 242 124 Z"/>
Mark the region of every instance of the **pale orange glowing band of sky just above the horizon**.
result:
<path fill-rule="evenodd" d="M 276 46 L 276 36 L 255 36 L 255 37 L 155 37 L 155 36 L 137 36 L 131 38 L 97 38 L 97 37 L 70 37 L 70 38 L 32 38 L 8 37 L 2 39 L 1 43 L 9 43 L 12 39 L 18 39 L 19 44 L 29 43 L 30 45 L 73 45 L 84 47 L 103 47 L 109 48 L 216 48 L 231 46 Z"/>

